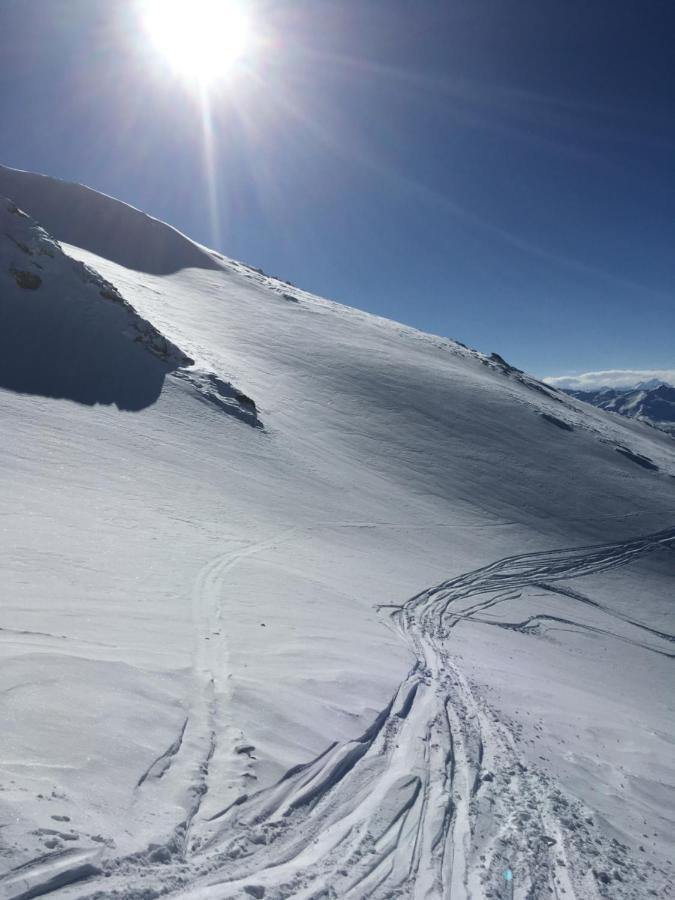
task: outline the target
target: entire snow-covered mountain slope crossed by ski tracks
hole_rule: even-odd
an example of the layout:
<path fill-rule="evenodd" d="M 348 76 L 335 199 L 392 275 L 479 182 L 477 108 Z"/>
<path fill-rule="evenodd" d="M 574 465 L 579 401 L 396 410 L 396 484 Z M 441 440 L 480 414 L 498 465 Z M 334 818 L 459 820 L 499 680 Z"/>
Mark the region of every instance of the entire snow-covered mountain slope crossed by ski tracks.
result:
<path fill-rule="evenodd" d="M 0 897 L 668 897 L 672 439 L 0 195 Z"/>

